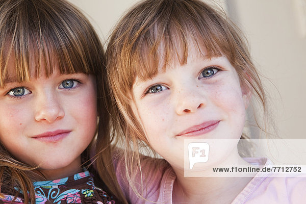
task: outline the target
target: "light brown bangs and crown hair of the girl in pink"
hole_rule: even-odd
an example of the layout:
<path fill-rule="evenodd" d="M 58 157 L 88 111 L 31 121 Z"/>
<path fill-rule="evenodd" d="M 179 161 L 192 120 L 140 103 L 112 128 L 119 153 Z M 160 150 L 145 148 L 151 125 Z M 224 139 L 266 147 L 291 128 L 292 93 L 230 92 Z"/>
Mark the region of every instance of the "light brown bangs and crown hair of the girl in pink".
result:
<path fill-rule="evenodd" d="M 236 45 L 228 34 L 225 14 L 198 2 L 156 2 L 154 9 L 154 3 L 146 1 L 124 16 L 120 22 L 123 27 L 114 32 L 116 44 L 109 45 L 120 50 L 116 60 L 125 67 L 123 74 L 130 75 L 130 87 L 135 76 L 146 80 L 171 63 L 186 64 L 191 46 L 208 58 L 225 55 L 234 60 Z"/>

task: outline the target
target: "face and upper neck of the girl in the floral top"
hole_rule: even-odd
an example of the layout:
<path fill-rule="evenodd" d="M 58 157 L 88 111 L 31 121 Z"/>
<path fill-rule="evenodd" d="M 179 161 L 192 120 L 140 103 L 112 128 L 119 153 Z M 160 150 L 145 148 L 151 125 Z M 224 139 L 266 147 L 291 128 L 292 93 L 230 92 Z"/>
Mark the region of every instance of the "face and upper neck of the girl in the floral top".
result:
<path fill-rule="evenodd" d="M 11 60 L 9 70 L 13 66 Z M 42 75 L 30 82 L 17 83 L 10 71 L 9 77 L 0 88 L 1 142 L 17 160 L 39 165 L 50 177 L 79 171 L 80 155 L 96 130 L 93 75 L 55 69 L 49 78 Z"/>

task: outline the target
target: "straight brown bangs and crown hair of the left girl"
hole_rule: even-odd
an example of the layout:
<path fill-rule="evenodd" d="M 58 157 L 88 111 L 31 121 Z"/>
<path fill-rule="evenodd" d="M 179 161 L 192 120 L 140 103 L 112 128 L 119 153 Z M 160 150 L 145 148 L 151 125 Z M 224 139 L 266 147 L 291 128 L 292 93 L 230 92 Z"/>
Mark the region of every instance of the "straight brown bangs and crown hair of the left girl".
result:
<path fill-rule="evenodd" d="M 65 2 L 14 1 L 15 7 L 0 19 L 6 27 L 0 29 L 0 86 L 12 77 L 9 60 L 14 60 L 15 70 L 10 74 L 17 82 L 42 74 L 49 77 L 55 68 L 60 73 L 96 73 L 104 60 L 98 59 L 103 50 L 96 49 L 100 42 L 93 29 L 88 29 L 91 25 L 83 14 L 71 9 L 54 15 L 54 10 L 61 10 L 55 7 Z M 0 4 L 1 12 L 4 4 Z M 82 20 L 75 20 L 75 16 L 82 16 Z"/>

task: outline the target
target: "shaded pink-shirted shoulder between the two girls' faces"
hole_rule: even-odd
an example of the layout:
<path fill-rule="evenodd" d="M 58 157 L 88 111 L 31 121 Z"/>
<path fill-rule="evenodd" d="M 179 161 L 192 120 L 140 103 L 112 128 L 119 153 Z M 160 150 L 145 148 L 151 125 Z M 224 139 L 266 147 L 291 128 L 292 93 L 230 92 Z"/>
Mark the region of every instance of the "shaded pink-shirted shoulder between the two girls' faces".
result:
<path fill-rule="evenodd" d="M 141 156 L 141 168 L 134 169 L 133 172 L 135 175 L 133 177 L 133 184 L 136 187 L 134 190 L 127 181 L 122 154 L 121 157 L 117 155 L 117 158 L 114 160 L 114 166 L 119 185 L 124 195 L 132 203 L 143 203 L 144 201 L 134 190 L 142 194 L 149 201 L 159 202 L 168 200 L 167 197 L 172 197 L 172 187 L 176 176 L 166 160 Z M 163 203 L 165 202 L 163 201 Z"/>

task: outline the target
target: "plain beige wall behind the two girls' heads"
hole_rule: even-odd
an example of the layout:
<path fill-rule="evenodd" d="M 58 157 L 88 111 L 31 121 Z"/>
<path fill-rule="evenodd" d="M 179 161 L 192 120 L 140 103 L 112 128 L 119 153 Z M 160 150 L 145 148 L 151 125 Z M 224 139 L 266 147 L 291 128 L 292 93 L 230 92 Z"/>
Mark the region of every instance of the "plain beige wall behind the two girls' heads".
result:
<path fill-rule="evenodd" d="M 104 42 L 120 15 L 138 2 L 69 1 L 89 16 Z M 254 62 L 269 79 L 264 82 L 280 136 L 306 138 L 306 0 L 218 2 L 246 34 Z"/>

